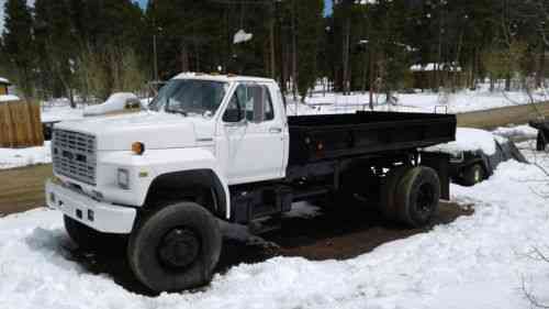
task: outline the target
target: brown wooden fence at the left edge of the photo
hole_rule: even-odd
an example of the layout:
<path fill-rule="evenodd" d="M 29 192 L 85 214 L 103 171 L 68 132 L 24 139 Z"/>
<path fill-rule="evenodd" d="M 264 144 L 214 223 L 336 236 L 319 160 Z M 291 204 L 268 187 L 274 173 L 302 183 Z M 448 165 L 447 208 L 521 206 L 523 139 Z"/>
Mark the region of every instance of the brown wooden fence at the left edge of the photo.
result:
<path fill-rule="evenodd" d="M 0 147 L 31 147 L 44 144 L 40 104 L 0 102 Z"/>

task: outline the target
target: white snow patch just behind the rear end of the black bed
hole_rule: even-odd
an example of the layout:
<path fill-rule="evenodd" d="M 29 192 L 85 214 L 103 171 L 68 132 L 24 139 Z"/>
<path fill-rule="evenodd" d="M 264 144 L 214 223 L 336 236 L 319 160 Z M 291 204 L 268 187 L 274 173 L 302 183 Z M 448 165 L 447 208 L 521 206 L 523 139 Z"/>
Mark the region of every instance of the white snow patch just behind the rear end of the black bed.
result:
<path fill-rule="evenodd" d="M 459 155 L 461 152 L 482 151 L 486 155 L 493 155 L 495 154 L 495 141 L 491 132 L 479 129 L 458 128 L 455 142 L 427 147 L 425 151 L 451 155 Z"/>

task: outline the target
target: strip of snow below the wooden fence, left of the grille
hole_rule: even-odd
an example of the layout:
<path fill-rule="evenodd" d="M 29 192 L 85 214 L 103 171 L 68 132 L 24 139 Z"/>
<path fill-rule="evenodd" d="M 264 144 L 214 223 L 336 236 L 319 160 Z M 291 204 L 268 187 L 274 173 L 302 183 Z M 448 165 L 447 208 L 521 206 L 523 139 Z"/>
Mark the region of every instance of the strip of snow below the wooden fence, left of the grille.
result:
<path fill-rule="evenodd" d="M 29 148 L 0 148 L 0 169 L 52 163 L 49 142 Z"/>

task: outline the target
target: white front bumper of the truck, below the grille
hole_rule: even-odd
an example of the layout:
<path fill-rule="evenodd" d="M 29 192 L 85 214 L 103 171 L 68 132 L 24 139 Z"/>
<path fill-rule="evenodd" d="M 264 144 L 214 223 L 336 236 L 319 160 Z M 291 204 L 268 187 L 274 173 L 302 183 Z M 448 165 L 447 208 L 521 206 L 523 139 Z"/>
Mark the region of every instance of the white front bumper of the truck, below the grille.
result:
<path fill-rule="evenodd" d="M 46 183 L 46 202 L 49 208 L 103 233 L 131 233 L 137 216 L 134 208 L 97 201 L 51 179 Z"/>

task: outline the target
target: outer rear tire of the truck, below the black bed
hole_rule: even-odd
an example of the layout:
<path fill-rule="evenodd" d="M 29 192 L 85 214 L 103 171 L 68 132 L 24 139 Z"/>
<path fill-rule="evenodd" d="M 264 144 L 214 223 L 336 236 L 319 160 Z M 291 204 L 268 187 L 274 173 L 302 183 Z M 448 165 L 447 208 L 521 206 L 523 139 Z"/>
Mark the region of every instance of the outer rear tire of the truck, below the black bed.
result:
<path fill-rule="evenodd" d="M 433 190 L 433 199 L 427 213 L 422 213 L 417 205 L 417 197 L 423 186 L 429 186 Z M 407 170 L 399 183 L 395 196 L 399 221 L 411 228 L 429 224 L 438 213 L 439 199 L 440 179 L 435 169 L 419 166 Z"/>

